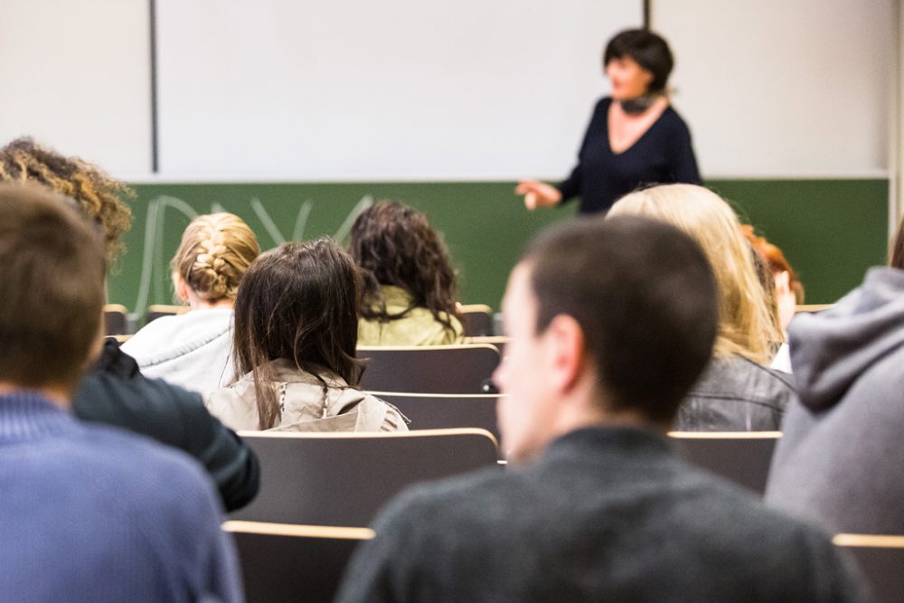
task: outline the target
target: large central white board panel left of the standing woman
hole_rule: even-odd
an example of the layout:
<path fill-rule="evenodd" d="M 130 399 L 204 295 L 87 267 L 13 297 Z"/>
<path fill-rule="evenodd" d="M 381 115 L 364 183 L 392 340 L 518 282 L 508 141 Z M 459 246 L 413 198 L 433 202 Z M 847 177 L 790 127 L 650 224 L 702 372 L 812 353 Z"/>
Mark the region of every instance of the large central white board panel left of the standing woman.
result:
<path fill-rule="evenodd" d="M 157 0 L 160 172 L 558 178 L 640 0 Z"/>

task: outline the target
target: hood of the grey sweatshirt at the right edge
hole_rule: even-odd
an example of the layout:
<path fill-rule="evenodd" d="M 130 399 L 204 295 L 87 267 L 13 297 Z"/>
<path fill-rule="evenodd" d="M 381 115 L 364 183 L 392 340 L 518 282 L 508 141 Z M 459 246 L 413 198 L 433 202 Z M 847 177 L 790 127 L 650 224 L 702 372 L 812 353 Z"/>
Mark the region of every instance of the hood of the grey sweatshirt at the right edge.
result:
<path fill-rule="evenodd" d="M 828 310 L 788 327 L 797 394 L 809 409 L 837 404 L 860 375 L 904 345 L 904 270 L 870 269 Z"/>

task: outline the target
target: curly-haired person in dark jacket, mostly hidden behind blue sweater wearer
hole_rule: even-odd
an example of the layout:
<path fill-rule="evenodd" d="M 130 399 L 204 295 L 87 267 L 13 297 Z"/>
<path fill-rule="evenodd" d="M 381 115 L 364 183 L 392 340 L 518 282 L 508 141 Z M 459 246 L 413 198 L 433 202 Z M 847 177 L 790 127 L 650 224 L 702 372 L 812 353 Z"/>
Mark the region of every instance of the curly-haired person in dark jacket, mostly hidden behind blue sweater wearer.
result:
<path fill-rule="evenodd" d="M 99 224 L 108 260 L 118 257 L 120 237 L 131 221 L 122 198 L 133 193 L 98 166 L 18 138 L 0 148 L 0 182 L 40 185 L 70 197 Z M 258 493 L 254 452 L 211 416 L 200 395 L 142 375 L 115 339 L 104 340 L 73 394 L 72 411 L 79 419 L 135 431 L 197 458 L 216 481 L 227 510 L 250 503 Z"/>

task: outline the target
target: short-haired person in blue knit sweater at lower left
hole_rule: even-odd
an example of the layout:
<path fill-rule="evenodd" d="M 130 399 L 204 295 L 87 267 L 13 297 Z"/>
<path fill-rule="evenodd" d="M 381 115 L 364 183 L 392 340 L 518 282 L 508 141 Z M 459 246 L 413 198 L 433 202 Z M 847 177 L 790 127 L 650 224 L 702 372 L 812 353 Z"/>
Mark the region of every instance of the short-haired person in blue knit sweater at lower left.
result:
<path fill-rule="evenodd" d="M 7 601 L 239 601 L 210 477 L 71 417 L 100 349 L 105 250 L 62 197 L 0 185 L 0 589 Z"/>

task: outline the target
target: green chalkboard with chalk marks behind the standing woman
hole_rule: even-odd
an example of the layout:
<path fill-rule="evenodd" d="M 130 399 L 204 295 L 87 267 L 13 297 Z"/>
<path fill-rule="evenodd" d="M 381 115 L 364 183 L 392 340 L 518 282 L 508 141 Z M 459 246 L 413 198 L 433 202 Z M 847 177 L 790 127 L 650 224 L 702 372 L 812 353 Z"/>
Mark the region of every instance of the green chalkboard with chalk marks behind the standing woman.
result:
<path fill-rule="evenodd" d="M 712 181 L 801 273 L 807 301 L 834 301 L 881 263 L 886 180 Z M 576 205 L 526 212 L 514 183 L 137 184 L 127 252 L 109 279 L 111 302 L 143 314 L 172 303 L 168 262 L 198 213 L 248 221 L 263 249 L 321 235 L 342 239 L 366 203 L 395 199 L 426 212 L 444 233 L 461 278 L 460 298 L 498 308 L 505 280 L 534 233 L 569 218 Z"/>

